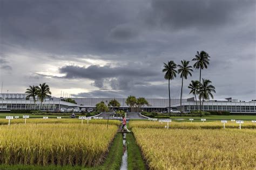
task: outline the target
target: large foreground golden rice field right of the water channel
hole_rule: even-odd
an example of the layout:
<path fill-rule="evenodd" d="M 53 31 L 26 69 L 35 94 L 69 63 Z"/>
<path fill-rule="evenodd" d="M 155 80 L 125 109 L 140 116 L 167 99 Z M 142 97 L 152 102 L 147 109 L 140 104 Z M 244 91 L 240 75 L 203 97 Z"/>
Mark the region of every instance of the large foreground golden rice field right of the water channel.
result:
<path fill-rule="evenodd" d="M 149 129 L 135 123 L 132 131 L 150 169 L 256 169 L 256 130 Z"/>

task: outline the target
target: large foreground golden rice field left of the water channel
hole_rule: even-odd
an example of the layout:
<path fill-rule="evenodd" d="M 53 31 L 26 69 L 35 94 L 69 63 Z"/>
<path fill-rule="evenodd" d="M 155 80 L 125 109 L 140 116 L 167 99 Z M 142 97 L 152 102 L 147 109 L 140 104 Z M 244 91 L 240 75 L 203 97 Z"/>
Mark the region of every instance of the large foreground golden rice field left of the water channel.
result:
<path fill-rule="evenodd" d="M 106 124 L 78 123 L 2 125 L 0 164 L 98 165 L 117 129 L 116 125 L 106 129 Z"/>

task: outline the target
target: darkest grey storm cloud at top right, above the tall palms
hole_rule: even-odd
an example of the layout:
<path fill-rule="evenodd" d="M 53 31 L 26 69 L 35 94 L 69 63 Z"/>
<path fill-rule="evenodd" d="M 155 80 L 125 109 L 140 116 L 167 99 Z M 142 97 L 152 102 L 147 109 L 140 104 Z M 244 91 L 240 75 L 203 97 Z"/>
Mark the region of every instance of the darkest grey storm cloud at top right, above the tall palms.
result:
<path fill-rule="evenodd" d="M 199 30 L 215 29 L 235 22 L 238 11 L 247 9 L 255 1 L 233 0 L 153 0 L 150 10 L 146 11 L 146 22 L 152 26 L 171 29 Z"/>

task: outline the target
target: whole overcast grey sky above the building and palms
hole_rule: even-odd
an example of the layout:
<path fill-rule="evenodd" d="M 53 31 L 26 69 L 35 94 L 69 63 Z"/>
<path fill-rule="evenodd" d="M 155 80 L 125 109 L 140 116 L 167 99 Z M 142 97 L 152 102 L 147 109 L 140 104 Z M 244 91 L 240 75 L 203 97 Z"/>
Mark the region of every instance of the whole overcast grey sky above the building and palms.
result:
<path fill-rule="evenodd" d="M 163 62 L 211 56 L 215 99 L 256 99 L 255 2 L 0 0 L 3 93 L 49 84 L 80 97 L 168 98 Z M 191 61 L 191 65 L 193 65 Z M 184 81 L 199 80 L 199 71 Z M 1 85 L 0 85 L 1 86 Z M 179 76 L 171 95 L 180 93 Z"/>

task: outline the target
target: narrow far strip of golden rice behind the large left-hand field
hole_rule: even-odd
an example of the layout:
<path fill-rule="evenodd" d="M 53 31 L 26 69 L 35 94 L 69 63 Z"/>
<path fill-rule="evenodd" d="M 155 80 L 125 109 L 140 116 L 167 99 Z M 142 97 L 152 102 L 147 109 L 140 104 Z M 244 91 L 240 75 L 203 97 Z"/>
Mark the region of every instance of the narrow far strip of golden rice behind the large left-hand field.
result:
<path fill-rule="evenodd" d="M 8 119 L 0 119 L 0 125 L 8 125 Z M 25 119 L 24 118 L 18 118 L 18 119 L 11 119 L 11 125 L 13 124 L 24 124 Z M 62 119 L 57 119 L 57 118 L 49 118 L 49 119 L 43 119 L 43 118 L 28 118 L 26 119 L 26 124 L 30 123 L 82 123 L 81 119 L 71 119 L 71 118 L 62 118 Z M 84 124 L 87 124 L 87 120 L 83 120 Z M 89 124 L 107 124 L 107 120 L 105 119 L 91 119 L 89 121 Z M 120 122 L 114 121 L 114 120 L 109 120 L 109 124 L 111 125 L 120 125 Z"/>

